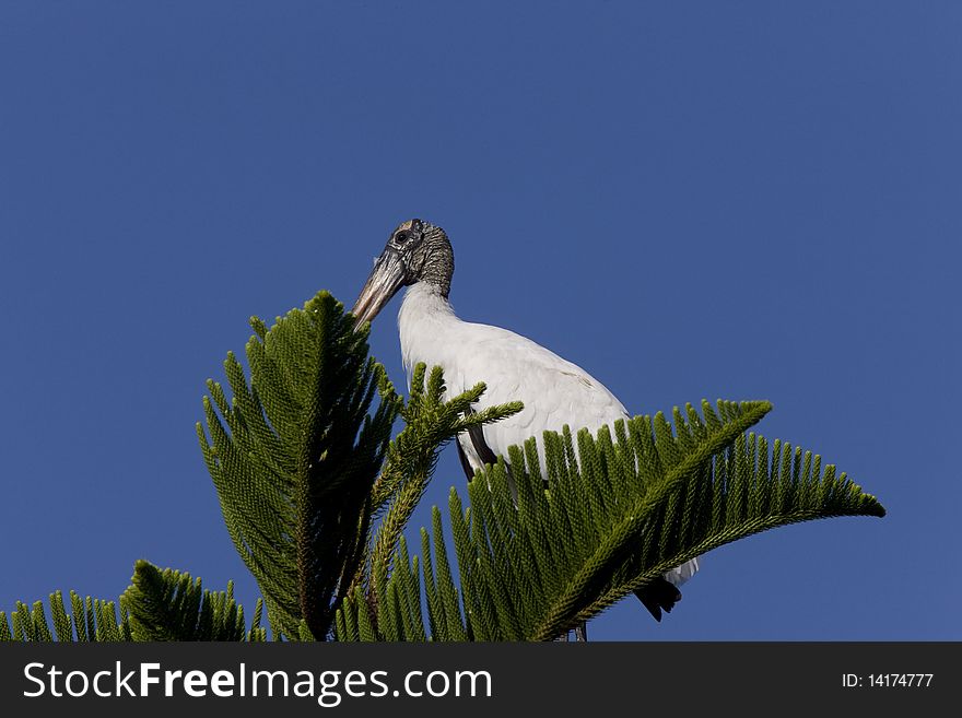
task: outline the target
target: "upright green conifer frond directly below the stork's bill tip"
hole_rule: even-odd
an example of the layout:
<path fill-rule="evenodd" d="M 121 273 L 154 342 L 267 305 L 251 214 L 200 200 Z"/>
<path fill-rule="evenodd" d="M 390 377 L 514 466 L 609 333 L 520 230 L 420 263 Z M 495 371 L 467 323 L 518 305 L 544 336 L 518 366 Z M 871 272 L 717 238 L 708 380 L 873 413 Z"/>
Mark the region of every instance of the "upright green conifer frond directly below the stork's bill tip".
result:
<path fill-rule="evenodd" d="M 233 397 L 208 382 L 197 433 L 234 546 L 290 638 L 327 636 L 360 570 L 400 399 L 367 357 L 366 330 L 327 292 L 268 329 L 251 319 L 250 382 L 233 354 Z M 374 395 L 380 402 L 368 413 Z"/>

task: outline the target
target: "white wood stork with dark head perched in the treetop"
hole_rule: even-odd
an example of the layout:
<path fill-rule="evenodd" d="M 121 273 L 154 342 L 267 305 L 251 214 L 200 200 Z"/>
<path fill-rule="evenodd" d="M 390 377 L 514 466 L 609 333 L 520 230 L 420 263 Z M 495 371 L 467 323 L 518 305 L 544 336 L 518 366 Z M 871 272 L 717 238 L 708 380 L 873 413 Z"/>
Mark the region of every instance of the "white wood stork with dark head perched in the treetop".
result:
<path fill-rule="evenodd" d="M 458 395 L 478 381 L 488 390 L 479 408 L 519 400 L 521 412 L 458 436 L 468 479 L 507 448 L 544 431 L 591 431 L 629 416 L 624 405 L 595 377 L 540 344 L 500 327 L 459 319 L 448 302 L 454 251 L 444 229 L 421 220 L 395 229 L 351 313 L 357 326 L 371 321 L 402 286 L 398 313 L 401 354 L 408 372 L 419 362 L 444 369 L 447 390 Z M 542 457 L 543 466 L 543 457 Z M 636 591 L 656 621 L 681 599 L 678 587 L 699 569 L 694 558 Z"/>

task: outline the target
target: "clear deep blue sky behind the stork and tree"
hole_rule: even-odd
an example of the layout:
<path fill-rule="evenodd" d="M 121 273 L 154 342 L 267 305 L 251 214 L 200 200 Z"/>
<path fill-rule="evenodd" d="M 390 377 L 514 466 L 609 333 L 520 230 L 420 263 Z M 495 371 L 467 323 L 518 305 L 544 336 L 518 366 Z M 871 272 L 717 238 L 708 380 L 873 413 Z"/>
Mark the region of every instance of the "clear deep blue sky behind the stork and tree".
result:
<path fill-rule="evenodd" d="M 718 550 L 591 637 L 962 639 L 960 36 L 950 2 L 2 3 L 0 608 L 140 557 L 251 608 L 203 381 L 422 216 L 464 318 L 634 413 L 769 399 L 760 432 L 889 509 Z"/>

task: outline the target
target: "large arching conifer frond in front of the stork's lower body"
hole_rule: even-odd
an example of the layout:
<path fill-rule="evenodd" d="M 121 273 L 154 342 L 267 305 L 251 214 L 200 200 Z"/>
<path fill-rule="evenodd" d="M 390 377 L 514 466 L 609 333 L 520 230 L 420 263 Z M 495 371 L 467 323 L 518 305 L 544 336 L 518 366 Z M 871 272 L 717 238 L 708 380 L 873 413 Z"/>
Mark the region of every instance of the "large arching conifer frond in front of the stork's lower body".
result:
<path fill-rule="evenodd" d="M 767 402 L 707 402 L 617 422 L 573 437 L 545 432 L 543 472 L 533 439 L 507 464 L 479 472 L 465 509 L 451 489 L 449 520 L 459 585 L 448 566 L 441 514 L 422 532 L 432 640 L 549 640 L 597 615 L 633 589 L 714 548 L 832 516 L 883 516 L 878 501 L 811 452 L 748 434 Z M 547 483 L 545 483 L 547 480 Z M 375 567 L 376 568 L 376 567 Z M 418 640 L 423 632 L 418 557 L 401 542 L 376 615 L 379 640 Z M 363 605 L 362 605 L 363 604 Z M 352 597 L 341 607 L 339 639 L 361 638 Z M 382 619 L 390 613 L 390 619 Z"/>

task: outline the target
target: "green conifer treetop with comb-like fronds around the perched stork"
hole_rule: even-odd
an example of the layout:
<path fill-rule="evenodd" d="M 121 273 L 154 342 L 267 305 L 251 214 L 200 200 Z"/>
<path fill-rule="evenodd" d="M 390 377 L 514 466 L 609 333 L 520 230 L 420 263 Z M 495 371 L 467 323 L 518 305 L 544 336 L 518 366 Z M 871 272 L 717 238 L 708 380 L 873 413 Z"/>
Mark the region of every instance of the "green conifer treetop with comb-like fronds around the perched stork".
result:
<path fill-rule="evenodd" d="M 467 505 L 451 487 L 412 555 L 404 529 L 441 449 L 521 404 L 469 411 L 484 385 L 449 397 L 441 369 L 423 365 L 404 401 L 326 292 L 271 328 L 250 323 L 249 380 L 228 353 L 230 397 L 209 380 L 197 425 L 263 596 L 250 625 L 231 585 L 212 592 L 140 561 L 118 601 L 70 592 L 68 611 L 58 591 L 49 620 L 40 601 L 0 612 L 0 640 L 266 640 L 263 607 L 272 637 L 288 640 L 550 640 L 719 545 L 885 513 L 819 456 L 752 433 L 767 402 L 702 402 L 671 422 L 565 427 L 512 447 L 469 482 Z"/>

